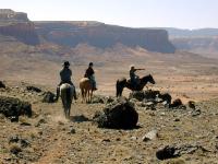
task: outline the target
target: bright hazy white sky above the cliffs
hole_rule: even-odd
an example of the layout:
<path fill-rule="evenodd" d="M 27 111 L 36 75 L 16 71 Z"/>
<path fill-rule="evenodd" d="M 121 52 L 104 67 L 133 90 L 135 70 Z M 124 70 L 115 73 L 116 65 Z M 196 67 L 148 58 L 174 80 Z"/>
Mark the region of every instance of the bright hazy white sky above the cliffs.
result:
<path fill-rule="evenodd" d="M 0 0 L 33 21 L 99 21 L 132 27 L 218 27 L 218 0 Z"/>

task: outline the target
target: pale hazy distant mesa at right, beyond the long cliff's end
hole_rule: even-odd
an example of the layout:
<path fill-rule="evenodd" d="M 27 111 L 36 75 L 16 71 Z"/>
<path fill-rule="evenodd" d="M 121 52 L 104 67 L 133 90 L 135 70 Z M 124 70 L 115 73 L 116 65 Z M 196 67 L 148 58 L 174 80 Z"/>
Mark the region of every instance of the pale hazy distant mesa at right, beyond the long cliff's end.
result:
<path fill-rule="evenodd" d="M 218 58 L 218 28 L 168 31 L 171 43 L 178 50 L 199 54 L 204 57 Z"/>

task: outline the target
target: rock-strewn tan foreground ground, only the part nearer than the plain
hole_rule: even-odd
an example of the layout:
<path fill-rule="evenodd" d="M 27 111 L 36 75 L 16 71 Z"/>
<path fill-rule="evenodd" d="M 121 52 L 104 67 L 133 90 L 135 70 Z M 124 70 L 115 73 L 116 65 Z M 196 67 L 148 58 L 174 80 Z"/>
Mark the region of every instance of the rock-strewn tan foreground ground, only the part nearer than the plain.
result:
<path fill-rule="evenodd" d="M 1 90 L 1 95 L 31 102 L 35 115 L 33 118 L 21 117 L 19 122 L 10 122 L 1 116 L 1 163 L 218 163 L 218 99 L 198 103 L 196 108 L 202 114 L 195 117 L 190 109 L 136 107 L 140 128 L 113 130 L 97 128 L 90 121 L 95 112 L 101 110 L 105 104 L 81 104 L 77 101 L 72 105 L 71 119 L 66 120 L 60 102 L 41 103 L 40 94 L 25 91 L 22 84 L 10 83 L 10 91 Z M 158 138 L 142 141 L 142 137 L 153 129 L 157 129 Z M 29 143 L 19 155 L 10 153 L 13 144 L 9 140 L 14 136 Z M 157 149 L 173 143 L 197 144 L 208 152 L 198 150 L 177 159 L 157 160 Z"/>

